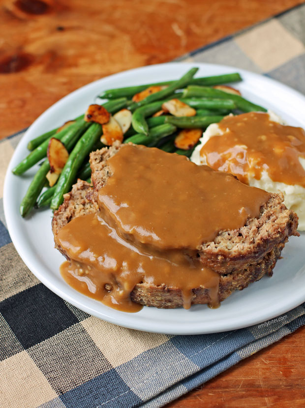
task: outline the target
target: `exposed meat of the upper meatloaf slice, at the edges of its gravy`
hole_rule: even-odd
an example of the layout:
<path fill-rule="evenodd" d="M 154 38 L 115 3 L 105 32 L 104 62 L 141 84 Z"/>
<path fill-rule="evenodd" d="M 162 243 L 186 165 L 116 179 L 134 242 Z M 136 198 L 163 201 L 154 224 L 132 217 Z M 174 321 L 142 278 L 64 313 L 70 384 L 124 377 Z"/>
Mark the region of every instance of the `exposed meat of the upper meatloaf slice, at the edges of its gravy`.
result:
<path fill-rule="evenodd" d="M 112 176 L 107 159 L 114 156 L 121 146 L 117 143 L 90 155 L 94 189 L 92 198 L 95 202 L 98 190 Z M 242 228 L 220 231 L 213 242 L 204 243 L 197 248 L 202 262 L 219 274 L 230 274 L 249 271 L 275 248 L 281 250 L 290 235 L 299 235 L 298 216 L 285 207 L 283 199 L 281 193 L 271 193 L 269 201 L 261 207 L 259 219 L 249 218 Z M 274 253 L 277 251 L 274 250 Z"/>

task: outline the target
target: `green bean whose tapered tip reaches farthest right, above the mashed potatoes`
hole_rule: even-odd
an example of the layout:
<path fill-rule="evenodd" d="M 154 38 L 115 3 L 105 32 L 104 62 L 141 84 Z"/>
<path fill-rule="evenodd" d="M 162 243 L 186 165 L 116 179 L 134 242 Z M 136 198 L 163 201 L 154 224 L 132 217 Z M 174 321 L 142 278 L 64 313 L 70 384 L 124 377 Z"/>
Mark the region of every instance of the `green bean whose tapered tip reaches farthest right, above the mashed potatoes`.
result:
<path fill-rule="evenodd" d="M 244 99 L 240 95 L 228 94 L 227 92 L 220 91 L 219 89 L 191 85 L 188 86 L 183 92 L 183 97 L 201 97 L 201 96 L 211 98 L 232 99 L 236 103 L 236 106 L 243 112 L 267 111 L 267 109 L 263 108 L 262 106 L 255 105 L 254 103 Z"/>

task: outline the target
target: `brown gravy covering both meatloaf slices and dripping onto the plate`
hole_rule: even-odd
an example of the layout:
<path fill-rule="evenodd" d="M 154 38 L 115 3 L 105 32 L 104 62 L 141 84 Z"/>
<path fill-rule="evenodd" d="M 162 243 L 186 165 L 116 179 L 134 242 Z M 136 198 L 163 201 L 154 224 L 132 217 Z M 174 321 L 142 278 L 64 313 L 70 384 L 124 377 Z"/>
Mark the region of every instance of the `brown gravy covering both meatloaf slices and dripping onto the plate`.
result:
<path fill-rule="evenodd" d="M 141 309 L 130 300 L 138 283 L 181 289 L 186 309 L 192 289 L 203 287 L 216 307 L 219 275 L 199 261 L 197 250 L 220 230 L 259 217 L 269 193 L 142 146 L 123 146 L 108 165 L 100 213 L 74 218 L 56 237 L 71 259 L 61 266 L 66 282 L 126 312 Z"/>

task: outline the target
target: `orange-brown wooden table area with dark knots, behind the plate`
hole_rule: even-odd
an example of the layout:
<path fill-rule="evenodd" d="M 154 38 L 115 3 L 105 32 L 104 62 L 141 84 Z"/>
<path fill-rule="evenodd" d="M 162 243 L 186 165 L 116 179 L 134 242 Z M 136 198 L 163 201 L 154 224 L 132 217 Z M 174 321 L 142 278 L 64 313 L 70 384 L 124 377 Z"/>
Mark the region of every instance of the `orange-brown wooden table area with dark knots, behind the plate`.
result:
<path fill-rule="evenodd" d="M 95 79 L 162 63 L 300 0 L 2 0 L 0 138 Z"/>

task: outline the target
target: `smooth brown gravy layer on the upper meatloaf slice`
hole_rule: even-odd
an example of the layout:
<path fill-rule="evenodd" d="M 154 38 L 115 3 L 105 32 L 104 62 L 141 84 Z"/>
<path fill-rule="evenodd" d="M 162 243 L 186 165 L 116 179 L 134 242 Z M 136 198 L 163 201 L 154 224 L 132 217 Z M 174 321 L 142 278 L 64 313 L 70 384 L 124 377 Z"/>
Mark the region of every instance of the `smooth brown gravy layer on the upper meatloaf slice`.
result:
<path fill-rule="evenodd" d="M 101 217 L 124 235 L 160 249 L 196 250 L 220 230 L 259 217 L 269 197 L 185 156 L 127 145 L 108 159 L 98 192 Z"/>

